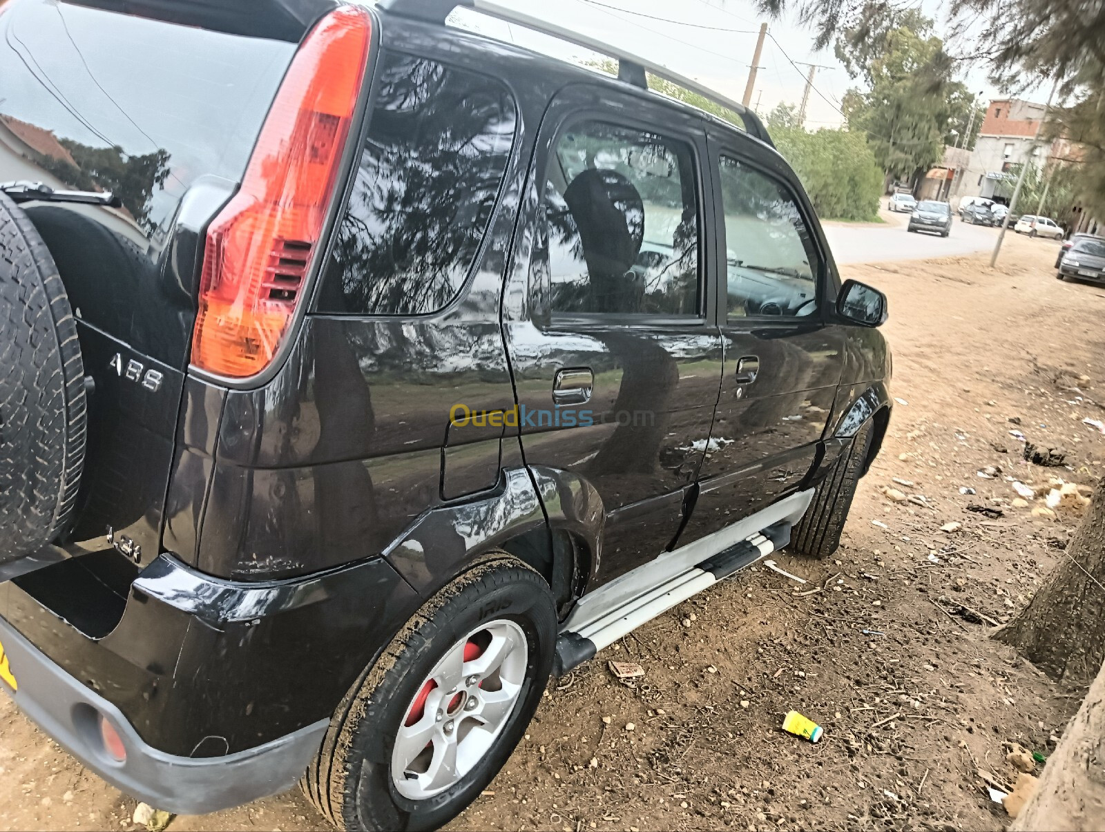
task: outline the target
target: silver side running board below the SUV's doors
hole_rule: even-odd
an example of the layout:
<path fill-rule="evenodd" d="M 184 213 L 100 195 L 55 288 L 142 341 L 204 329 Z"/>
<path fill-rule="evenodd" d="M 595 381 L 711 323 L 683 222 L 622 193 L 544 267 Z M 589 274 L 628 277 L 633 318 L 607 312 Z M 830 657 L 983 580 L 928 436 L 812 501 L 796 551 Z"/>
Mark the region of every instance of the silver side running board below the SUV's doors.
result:
<path fill-rule="evenodd" d="M 552 672 L 562 676 L 579 664 L 592 659 L 597 652 L 613 644 L 641 624 L 666 612 L 678 603 L 696 596 L 707 587 L 728 578 L 772 551 L 790 543 L 789 522 L 777 523 L 762 531 L 695 564 L 663 583 L 636 594 L 618 607 L 580 622 L 575 629 L 560 633 L 556 644 Z M 571 622 L 569 622 L 571 623 Z"/>

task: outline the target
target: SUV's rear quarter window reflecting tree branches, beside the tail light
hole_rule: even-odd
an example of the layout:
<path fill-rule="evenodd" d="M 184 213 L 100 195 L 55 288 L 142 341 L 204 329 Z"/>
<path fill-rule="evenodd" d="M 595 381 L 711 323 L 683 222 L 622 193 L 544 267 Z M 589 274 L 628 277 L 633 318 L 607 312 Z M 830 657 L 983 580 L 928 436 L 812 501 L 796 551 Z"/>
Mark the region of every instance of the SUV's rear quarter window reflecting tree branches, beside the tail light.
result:
<path fill-rule="evenodd" d="M 319 309 L 415 315 L 463 286 L 514 143 L 515 107 L 497 81 L 385 54 L 349 208 Z"/>

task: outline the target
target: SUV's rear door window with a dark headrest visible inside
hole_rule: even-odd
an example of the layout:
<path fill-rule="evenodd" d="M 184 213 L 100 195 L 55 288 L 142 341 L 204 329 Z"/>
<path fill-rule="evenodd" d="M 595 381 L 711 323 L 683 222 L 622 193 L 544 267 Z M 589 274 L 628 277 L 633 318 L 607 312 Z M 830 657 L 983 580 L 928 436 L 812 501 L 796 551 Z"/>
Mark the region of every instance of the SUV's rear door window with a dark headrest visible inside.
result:
<path fill-rule="evenodd" d="M 698 314 L 694 182 L 681 141 L 598 122 L 567 130 L 545 188 L 551 309 Z"/>

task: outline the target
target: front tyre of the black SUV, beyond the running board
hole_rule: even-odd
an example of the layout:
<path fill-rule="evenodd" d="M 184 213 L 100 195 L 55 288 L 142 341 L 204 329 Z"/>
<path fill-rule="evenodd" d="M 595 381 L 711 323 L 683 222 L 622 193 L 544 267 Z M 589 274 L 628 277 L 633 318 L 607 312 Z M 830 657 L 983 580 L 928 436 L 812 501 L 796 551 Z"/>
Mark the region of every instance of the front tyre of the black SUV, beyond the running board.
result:
<path fill-rule="evenodd" d="M 874 425 L 869 420 L 818 485 L 813 502 L 791 533 L 791 550 L 808 557 L 827 558 L 840 547 L 840 536 L 871 453 L 873 438 Z"/>

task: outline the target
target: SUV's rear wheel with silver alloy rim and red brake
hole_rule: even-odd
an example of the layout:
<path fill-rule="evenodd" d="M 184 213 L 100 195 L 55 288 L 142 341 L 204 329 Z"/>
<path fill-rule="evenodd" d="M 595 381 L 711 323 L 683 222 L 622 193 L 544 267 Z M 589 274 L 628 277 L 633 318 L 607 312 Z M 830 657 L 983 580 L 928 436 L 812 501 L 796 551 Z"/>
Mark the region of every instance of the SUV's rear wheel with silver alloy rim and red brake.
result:
<path fill-rule="evenodd" d="M 523 638 L 526 650 L 519 655 L 520 641 L 516 641 L 498 665 L 498 692 L 515 686 L 517 692 L 513 694 L 513 705 L 503 710 L 497 733 L 488 740 L 487 731 L 474 733 L 472 728 L 483 718 L 482 694 L 494 674 L 473 684 L 470 680 L 477 676 L 467 675 L 467 667 L 477 666 L 470 665 L 470 661 L 480 660 L 480 656 L 469 659 L 470 645 L 477 644 L 482 633 L 491 633 L 492 628 L 502 628 L 499 638 Z M 484 650 L 495 643 L 495 638 L 490 636 Z M 480 797 L 525 734 L 552 668 L 556 638 L 556 603 L 540 575 L 505 552 L 493 554 L 476 564 L 427 601 L 346 694 L 301 782 L 307 798 L 343 830 L 436 829 L 449 822 Z M 451 691 L 446 689 L 435 702 L 432 697 L 436 686 L 431 687 L 433 674 L 441 677 L 445 671 L 439 672 L 439 665 L 448 667 L 446 656 L 455 656 L 457 650 L 463 651 L 464 663 L 452 675 L 460 680 L 460 693 L 449 698 Z M 502 670 L 507 661 L 515 662 L 509 685 L 507 672 Z M 443 684 L 452 684 L 442 678 Z M 467 705 L 473 698 L 478 702 L 472 712 L 476 717 L 467 716 Z M 444 707 L 438 708 L 441 704 Z M 418 730 L 423 724 L 425 727 Z M 408 728 L 412 729 L 413 739 L 401 734 Z M 444 733 L 446 728 L 449 736 Z M 424 736 L 429 736 L 429 741 L 422 754 L 394 777 L 394 763 L 402 759 L 404 740 L 409 749 L 413 747 L 411 743 L 418 745 Z M 490 741 L 490 747 L 442 790 L 427 789 L 427 794 L 418 799 L 400 791 L 421 790 L 422 776 L 430 778 L 430 786 L 436 782 L 432 771 L 442 769 L 440 765 L 434 768 L 433 760 L 439 752 L 446 754 L 449 737 L 454 738 L 454 754 L 473 737 L 481 743 Z M 430 749 L 430 759 L 425 761 L 424 755 Z M 469 755 L 471 751 L 470 747 Z M 415 763 L 422 765 L 420 760 L 425 762 L 427 771 L 413 777 L 411 769 Z M 448 769 L 443 775 L 448 781 L 445 775 Z"/>

